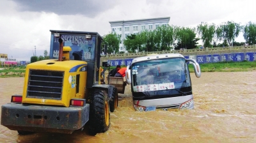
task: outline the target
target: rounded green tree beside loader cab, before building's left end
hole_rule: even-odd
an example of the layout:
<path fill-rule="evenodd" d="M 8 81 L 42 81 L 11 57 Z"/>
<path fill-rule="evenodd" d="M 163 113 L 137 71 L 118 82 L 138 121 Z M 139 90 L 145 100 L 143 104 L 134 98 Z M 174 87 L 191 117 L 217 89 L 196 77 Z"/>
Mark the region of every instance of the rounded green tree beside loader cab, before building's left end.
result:
<path fill-rule="evenodd" d="M 109 33 L 103 37 L 104 43 L 108 46 L 108 52 L 119 52 L 121 36 L 116 33 Z"/>

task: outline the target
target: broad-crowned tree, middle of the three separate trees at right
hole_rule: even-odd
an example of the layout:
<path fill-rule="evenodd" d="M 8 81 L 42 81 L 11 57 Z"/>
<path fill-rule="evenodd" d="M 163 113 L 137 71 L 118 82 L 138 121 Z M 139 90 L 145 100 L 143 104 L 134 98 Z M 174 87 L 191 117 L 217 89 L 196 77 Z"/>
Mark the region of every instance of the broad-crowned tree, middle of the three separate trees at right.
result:
<path fill-rule="evenodd" d="M 234 41 L 235 38 L 237 38 L 242 28 L 243 26 L 240 26 L 240 24 L 236 22 L 232 22 L 232 21 L 224 22 L 217 27 L 216 36 L 218 40 L 221 40 L 221 41 L 227 40 L 228 45 L 230 45 L 230 43 Z"/>

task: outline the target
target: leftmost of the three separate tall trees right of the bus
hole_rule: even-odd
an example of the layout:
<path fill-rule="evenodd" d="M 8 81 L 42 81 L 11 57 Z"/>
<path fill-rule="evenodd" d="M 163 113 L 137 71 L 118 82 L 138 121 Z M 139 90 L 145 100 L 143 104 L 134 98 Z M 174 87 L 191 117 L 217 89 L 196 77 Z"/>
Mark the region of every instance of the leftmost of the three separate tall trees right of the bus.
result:
<path fill-rule="evenodd" d="M 215 24 L 202 22 L 197 26 L 197 32 L 200 35 L 201 40 L 204 42 L 204 47 L 211 47 L 215 34 Z"/>

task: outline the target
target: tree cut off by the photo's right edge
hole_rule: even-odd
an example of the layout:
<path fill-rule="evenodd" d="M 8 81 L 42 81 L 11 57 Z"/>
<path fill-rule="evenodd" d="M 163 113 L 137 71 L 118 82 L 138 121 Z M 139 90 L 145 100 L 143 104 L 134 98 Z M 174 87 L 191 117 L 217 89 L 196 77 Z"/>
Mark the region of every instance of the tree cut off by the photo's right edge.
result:
<path fill-rule="evenodd" d="M 244 26 L 243 36 L 248 44 L 256 44 L 256 24 L 248 22 L 248 24 Z"/>

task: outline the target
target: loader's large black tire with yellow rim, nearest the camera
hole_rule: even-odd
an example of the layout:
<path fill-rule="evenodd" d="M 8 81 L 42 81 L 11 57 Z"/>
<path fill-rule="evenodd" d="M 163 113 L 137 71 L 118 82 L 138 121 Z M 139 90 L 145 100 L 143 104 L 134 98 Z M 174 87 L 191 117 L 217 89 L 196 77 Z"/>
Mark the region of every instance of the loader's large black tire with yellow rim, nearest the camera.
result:
<path fill-rule="evenodd" d="M 108 95 L 104 94 L 104 91 L 95 89 L 88 102 L 90 103 L 89 134 L 106 132 L 110 124 Z"/>

